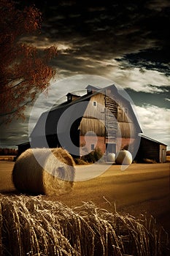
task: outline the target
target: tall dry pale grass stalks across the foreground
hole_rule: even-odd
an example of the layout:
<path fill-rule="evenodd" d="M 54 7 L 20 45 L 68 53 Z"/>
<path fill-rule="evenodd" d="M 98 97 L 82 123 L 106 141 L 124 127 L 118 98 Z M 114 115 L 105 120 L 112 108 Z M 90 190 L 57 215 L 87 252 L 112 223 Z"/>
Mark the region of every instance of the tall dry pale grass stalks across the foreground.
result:
<path fill-rule="evenodd" d="M 69 208 L 44 198 L 0 195 L 0 255 L 169 255 L 168 235 L 152 217 L 139 220 L 92 202 Z"/>

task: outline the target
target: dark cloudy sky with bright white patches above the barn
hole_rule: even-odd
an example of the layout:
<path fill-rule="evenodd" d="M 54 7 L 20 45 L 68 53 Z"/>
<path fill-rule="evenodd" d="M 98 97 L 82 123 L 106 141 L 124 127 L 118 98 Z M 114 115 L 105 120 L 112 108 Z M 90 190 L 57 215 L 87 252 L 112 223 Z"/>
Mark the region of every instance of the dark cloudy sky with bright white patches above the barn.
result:
<path fill-rule="evenodd" d="M 67 92 L 115 83 L 131 97 L 144 135 L 170 150 L 170 1 L 18 1 L 42 11 L 42 33 L 23 42 L 42 50 L 58 46 L 52 61 L 57 70 L 51 83 L 53 104 Z M 73 79 L 74 78 L 74 79 Z M 79 88 L 80 79 L 83 85 Z M 87 79 L 86 79 L 87 78 Z M 94 79 L 95 78 L 95 79 Z M 61 85 L 61 81 L 68 82 Z M 73 80 L 76 80 L 72 86 Z M 36 105 L 37 115 L 51 106 Z M 55 102 L 56 100 L 56 102 Z M 28 141 L 29 116 L 0 127 L 0 147 Z M 34 108 L 35 114 L 35 108 Z"/>

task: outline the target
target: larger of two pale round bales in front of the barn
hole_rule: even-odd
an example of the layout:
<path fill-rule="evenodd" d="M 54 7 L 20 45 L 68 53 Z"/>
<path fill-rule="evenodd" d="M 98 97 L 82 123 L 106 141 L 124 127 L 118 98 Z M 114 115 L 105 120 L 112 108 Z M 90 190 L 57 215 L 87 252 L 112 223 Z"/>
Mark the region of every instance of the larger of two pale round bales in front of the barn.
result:
<path fill-rule="evenodd" d="M 120 150 L 117 152 L 115 157 L 115 162 L 117 165 L 131 165 L 132 155 L 128 150 Z"/>

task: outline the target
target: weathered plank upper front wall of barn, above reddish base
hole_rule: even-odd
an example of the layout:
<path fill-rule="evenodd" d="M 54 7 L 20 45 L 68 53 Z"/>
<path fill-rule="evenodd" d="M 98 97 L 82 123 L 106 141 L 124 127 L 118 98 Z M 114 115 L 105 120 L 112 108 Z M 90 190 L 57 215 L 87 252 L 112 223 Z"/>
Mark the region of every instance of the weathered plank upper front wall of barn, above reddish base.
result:
<path fill-rule="evenodd" d="M 99 93 L 90 98 L 80 122 L 80 135 L 93 131 L 97 136 L 112 139 L 120 136 L 122 138 L 136 138 L 139 130 L 137 130 L 137 124 L 134 122 L 130 103 L 120 101 L 116 95 L 111 93 L 112 91 L 107 91 L 107 95 Z M 95 105 L 93 102 L 96 102 Z"/>

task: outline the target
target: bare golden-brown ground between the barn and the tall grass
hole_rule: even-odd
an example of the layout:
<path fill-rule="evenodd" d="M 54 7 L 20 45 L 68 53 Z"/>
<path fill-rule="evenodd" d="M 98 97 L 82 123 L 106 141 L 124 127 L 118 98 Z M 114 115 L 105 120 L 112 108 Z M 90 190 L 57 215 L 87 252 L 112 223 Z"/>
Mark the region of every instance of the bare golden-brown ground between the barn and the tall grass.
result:
<path fill-rule="evenodd" d="M 0 162 L 0 193 L 18 194 L 12 184 L 14 162 Z M 83 171 L 76 167 L 76 172 Z M 100 168 L 100 165 L 97 165 Z M 91 169 L 93 171 L 93 169 Z M 45 200 L 56 200 L 67 206 L 80 206 L 83 201 L 93 201 L 96 206 L 121 214 L 141 217 L 152 215 L 158 225 L 170 233 L 170 163 L 132 164 L 121 170 L 112 165 L 101 176 L 86 181 L 77 181 L 69 195 L 44 196 Z M 116 209 L 115 209 L 116 208 Z"/>

